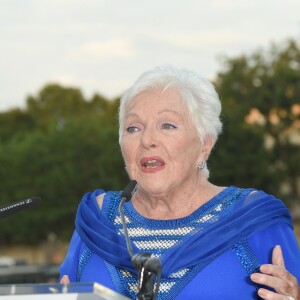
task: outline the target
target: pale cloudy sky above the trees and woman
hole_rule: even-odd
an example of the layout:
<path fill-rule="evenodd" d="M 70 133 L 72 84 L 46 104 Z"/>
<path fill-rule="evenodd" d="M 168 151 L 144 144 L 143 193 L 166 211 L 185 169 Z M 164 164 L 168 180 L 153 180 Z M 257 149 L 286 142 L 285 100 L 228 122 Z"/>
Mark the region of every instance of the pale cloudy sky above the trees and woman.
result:
<path fill-rule="evenodd" d="M 49 83 L 113 99 L 162 64 L 213 79 L 221 57 L 287 39 L 299 0 L 0 0 L 0 111 Z"/>

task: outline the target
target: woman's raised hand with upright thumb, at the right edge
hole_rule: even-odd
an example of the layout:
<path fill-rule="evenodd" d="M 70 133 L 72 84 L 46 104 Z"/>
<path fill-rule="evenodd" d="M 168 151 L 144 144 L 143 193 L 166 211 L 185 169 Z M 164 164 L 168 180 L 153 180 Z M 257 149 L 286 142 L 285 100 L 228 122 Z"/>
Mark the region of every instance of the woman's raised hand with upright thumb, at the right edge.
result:
<path fill-rule="evenodd" d="M 272 253 L 272 264 L 261 265 L 261 273 L 253 273 L 251 280 L 273 288 L 276 293 L 260 288 L 258 295 L 267 300 L 300 300 L 297 279 L 285 269 L 280 246 L 276 246 Z"/>

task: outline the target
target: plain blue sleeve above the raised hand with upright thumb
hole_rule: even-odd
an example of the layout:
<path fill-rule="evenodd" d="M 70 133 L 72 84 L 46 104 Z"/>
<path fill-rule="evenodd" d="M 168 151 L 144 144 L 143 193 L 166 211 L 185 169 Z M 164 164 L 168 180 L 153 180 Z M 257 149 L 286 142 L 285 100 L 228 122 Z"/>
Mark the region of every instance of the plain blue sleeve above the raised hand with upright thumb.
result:
<path fill-rule="evenodd" d="M 290 226 L 271 226 L 251 237 L 249 244 L 262 264 L 272 263 L 272 251 L 276 245 L 280 245 L 286 269 L 300 282 L 300 250 Z"/>

